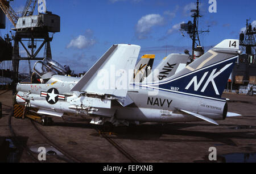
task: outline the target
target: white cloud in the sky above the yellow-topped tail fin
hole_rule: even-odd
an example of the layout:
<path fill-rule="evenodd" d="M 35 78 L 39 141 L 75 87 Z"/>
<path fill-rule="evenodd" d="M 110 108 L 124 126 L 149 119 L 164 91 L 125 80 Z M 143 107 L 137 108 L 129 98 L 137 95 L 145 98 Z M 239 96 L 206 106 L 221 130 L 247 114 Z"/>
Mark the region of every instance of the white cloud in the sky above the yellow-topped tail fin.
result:
<path fill-rule="evenodd" d="M 151 31 L 152 27 L 162 25 L 163 23 L 164 18 L 161 15 L 148 14 L 138 20 L 136 31 L 138 34 L 146 34 Z"/>

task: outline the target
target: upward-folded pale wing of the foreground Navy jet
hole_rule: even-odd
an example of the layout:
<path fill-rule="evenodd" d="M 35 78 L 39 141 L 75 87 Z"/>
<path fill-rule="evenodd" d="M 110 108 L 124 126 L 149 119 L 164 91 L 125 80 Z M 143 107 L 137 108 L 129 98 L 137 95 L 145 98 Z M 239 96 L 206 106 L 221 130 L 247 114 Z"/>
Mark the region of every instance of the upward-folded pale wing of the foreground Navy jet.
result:
<path fill-rule="evenodd" d="M 133 72 L 140 49 L 138 45 L 113 45 L 71 91 L 126 97 L 128 72 Z"/>

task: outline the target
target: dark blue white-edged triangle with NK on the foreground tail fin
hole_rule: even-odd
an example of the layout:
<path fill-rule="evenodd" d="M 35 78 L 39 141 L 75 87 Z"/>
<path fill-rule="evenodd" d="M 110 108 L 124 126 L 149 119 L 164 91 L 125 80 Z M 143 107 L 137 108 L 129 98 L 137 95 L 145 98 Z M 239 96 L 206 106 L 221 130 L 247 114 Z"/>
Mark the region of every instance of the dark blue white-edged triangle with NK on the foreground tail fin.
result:
<path fill-rule="evenodd" d="M 172 80 L 134 85 L 220 100 L 237 57 L 222 60 Z"/>

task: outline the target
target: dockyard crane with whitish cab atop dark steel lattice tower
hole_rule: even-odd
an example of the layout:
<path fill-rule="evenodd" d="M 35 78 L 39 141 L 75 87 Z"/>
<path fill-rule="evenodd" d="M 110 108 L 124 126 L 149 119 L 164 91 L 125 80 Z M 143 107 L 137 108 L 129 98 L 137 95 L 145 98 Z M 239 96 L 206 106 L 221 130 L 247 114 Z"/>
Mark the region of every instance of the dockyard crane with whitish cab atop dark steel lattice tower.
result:
<path fill-rule="evenodd" d="M 13 81 L 15 84 L 18 82 L 20 60 L 28 60 L 30 64 L 30 60 L 43 60 L 45 57 L 48 59 L 52 58 L 50 42 L 53 35 L 50 37 L 49 32 L 60 32 L 60 16 L 49 11 L 33 15 L 36 2 L 38 2 L 38 6 L 40 5 L 41 7 L 43 5 L 43 9 L 46 9 L 45 0 L 27 0 L 22 15 L 19 16 L 10 7 L 10 1 L 13 0 L 0 0 L 0 7 L 15 27 L 11 28 L 11 30 L 15 31 L 12 53 Z M 51 23 L 48 21 L 51 21 Z M 27 47 L 24 42 L 27 43 Z M 40 46 L 36 48 L 36 43 L 39 42 Z M 22 45 L 27 56 L 20 56 L 19 45 Z M 44 57 L 39 57 L 39 52 L 43 46 L 45 46 Z"/>

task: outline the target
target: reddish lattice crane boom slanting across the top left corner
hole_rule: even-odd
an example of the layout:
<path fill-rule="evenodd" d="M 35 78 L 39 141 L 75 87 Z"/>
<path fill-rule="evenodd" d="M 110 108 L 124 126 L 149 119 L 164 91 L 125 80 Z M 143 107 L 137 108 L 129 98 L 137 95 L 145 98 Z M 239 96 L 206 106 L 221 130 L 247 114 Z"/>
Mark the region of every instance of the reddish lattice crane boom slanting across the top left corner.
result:
<path fill-rule="evenodd" d="M 0 0 L 0 7 L 3 10 L 3 13 L 5 13 L 7 18 L 11 21 L 11 23 L 13 23 L 14 27 L 16 27 L 16 23 L 18 22 L 19 16 L 9 6 L 9 2 L 6 0 Z"/>

